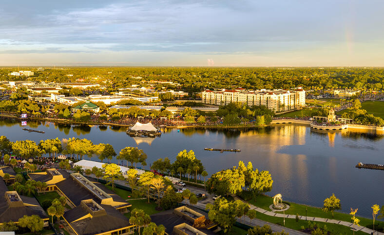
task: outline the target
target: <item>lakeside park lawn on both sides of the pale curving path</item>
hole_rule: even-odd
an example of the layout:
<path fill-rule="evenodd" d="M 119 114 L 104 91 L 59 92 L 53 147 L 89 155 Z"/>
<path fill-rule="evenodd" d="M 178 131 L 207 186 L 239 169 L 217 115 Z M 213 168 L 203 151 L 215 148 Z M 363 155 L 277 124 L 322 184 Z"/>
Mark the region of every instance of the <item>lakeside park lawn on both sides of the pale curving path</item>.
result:
<path fill-rule="evenodd" d="M 248 192 L 243 191 L 243 194 L 248 194 Z M 244 196 L 247 198 L 247 196 Z M 249 197 L 249 196 L 248 196 Z M 283 212 L 273 212 L 273 215 L 276 213 L 277 215 L 272 216 L 271 210 L 269 209 L 269 206 L 273 204 L 273 198 L 269 196 L 263 196 L 259 195 L 256 198 L 252 198 L 248 200 L 248 202 L 256 207 L 259 207 L 261 209 L 266 210 L 266 213 L 258 212 L 256 218 L 262 219 L 271 223 L 283 225 Z M 330 212 L 326 213 L 321 208 L 317 207 L 311 207 L 306 206 L 302 204 L 292 203 L 292 202 L 286 202 L 284 203 L 289 205 L 289 209 L 284 212 L 284 214 L 291 215 L 288 218 L 285 219 L 285 226 L 291 229 L 295 230 L 301 230 L 302 226 L 307 228 L 308 222 L 306 221 L 306 217 L 308 221 L 315 222 L 320 227 L 323 227 L 326 225 L 328 231 L 331 231 L 332 234 L 350 234 L 351 228 L 347 227 L 351 224 L 351 215 L 345 214 L 345 213 L 334 213 L 334 217 L 332 218 L 332 214 Z M 307 214 L 306 214 L 307 210 Z M 270 212 L 270 213 L 268 213 Z M 268 215 L 270 214 L 270 215 Z M 281 214 L 281 216 L 279 215 Z M 298 221 L 296 221 L 296 215 L 298 215 Z M 306 216 L 307 215 L 307 216 Z M 313 221 L 314 217 L 316 219 Z M 364 218 L 364 217 L 358 217 L 360 219 L 360 226 L 367 227 L 372 229 L 373 220 Z M 336 220 L 341 220 L 340 223 L 332 223 L 336 222 Z M 323 222 L 326 221 L 326 222 Z M 330 222 L 332 221 L 332 222 Z M 375 229 L 376 231 L 379 229 L 379 231 L 383 232 L 384 222 L 375 220 Z M 355 231 L 356 235 L 366 235 L 363 231 Z"/>

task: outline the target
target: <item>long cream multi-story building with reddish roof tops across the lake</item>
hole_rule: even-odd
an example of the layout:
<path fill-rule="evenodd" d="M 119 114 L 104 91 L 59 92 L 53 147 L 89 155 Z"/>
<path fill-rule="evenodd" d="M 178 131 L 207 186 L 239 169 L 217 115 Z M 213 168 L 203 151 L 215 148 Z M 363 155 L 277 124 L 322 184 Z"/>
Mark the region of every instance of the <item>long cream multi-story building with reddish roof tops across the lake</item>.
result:
<path fill-rule="evenodd" d="M 248 106 L 264 105 L 274 112 L 284 112 L 305 106 L 306 92 L 301 89 L 293 90 L 256 90 L 247 91 L 244 88 L 235 90 L 210 91 L 202 93 L 202 102 L 213 105 L 227 105 L 230 102 L 246 103 Z"/>

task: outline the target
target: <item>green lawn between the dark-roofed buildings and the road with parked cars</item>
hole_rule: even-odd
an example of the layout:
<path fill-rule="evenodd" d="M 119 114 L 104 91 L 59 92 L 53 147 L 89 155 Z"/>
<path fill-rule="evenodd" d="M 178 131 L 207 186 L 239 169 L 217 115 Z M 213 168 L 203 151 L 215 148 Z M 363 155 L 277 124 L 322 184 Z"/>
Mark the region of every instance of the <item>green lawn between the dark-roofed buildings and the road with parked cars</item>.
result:
<path fill-rule="evenodd" d="M 112 190 L 112 187 L 110 185 L 106 185 L 106 187 Z M 125 200 L 128 199 L 127 202 L 132 204 L 132 206 L 129 207 L 130 211 L 137 208 L 137 209 L 143 210 L 148 215 L 152 215 L 159 212 L 155 210 L 157 204 L 153 200 L 150 200 L 150 203 L 148 203 L 148 199 L 134 199 L 132 198 L 132 193 L 130 191 L 119 189 L 116 187 L 114 188 L 114 191 L 116 195 L 120 196 L 121 198 Z M 128 196 L 131 196 L 131 197 L 128 197 Z M 125 215 L 128 218 L 131 216 L 130 213 L 127 213 Z"/>

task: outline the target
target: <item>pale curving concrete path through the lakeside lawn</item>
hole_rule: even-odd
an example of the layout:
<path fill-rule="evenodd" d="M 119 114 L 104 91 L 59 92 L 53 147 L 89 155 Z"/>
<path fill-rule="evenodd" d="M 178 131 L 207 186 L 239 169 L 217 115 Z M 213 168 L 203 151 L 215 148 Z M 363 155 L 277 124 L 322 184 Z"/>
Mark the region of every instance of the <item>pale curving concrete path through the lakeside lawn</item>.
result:
<path fill-rule="evenodd" d="M 239 196 L 236 196 L 236 195 L 231 195 L 231 196 L 235 200 L 242 200 L 242 201 L 244 201 Z M 246 201 L 244 201 L 244 202 L 246 202 Z M 248 202 L 246 202 L 246 203 L 248 203 Z M 263 213 L 263 214 L 269 215 L 269 216 L 284 217 L 283 214 L 269 212 L 269 211 L 266 211 L 266 210 L 264 210 L 264 209 L 262 209 L 260 207 L 254 206 L 252 204 L 250 204 L 250 210 L 255 210 L 257 212 L 260 212 L 260 213 Z M 285 214 L 285 217 L 286 218 L 296 218 L 296 215 L 287 215 L 287 214 Z M 299 216 L 299 219 L 305 220 L 306 216 Z M 351 229 L 353 229 L 353 224 L 351 222 L 346 222 L 346 221 L 341 221 L 341 220 L 336 220 L 336 219 L 328 219 L 328 218 L 319 218 L 319 217 L 307 216 L 307 220 L 318 221 L 318 222 L 326 222 L 326 223 L 333 223 L 333 224 L 340 224 L 340 225 L 344 225 L 344 226 L 347 226 L 347 227 L 350 227 Z M 372 229 L 368 229 L 368 228 L 363 227 L 363 226 L 355 226 L 355 231 L 362 231 L 362 232 L 367 233 L 367 234 L 371 234 L 373 232 Z M 291 233 L 289 232 L 289 234 L 291 234 Z M 375 235 L 384 235 L 384 233 L 375 232 Z"/>

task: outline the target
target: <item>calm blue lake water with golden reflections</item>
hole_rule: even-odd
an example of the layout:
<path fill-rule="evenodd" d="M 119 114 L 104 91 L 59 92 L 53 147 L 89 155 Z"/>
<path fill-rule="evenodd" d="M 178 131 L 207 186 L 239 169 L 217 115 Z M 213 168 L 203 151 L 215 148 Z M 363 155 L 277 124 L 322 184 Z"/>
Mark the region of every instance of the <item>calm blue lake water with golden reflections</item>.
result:
<path fill-rule="evenodd" d="M 79 127 L 34 121 L 27 125 L 26 128 L 45 134 L 23 131 L 25 126 L 17 120 L 0 119 L 0 135 L 11 141 L 31 139 L 37 143 L 56 137 L 87 138 L 95 144 L 112 144 L 117 153 L 126 146 L 134 146 L 148 155 L 146 168 L 159 157 L 169 157 L 173 162 L 178 152 L 192 149 L 210 175 L 237 165 L 239 160 L 245 164 L 251 161 L 259 170 L 269 170 L 274 182 L 268 195 L 280 193 L 284 200 L 322 207 L 324 199 L 335 193 L 344 212 L 358 207 L 358 214 L 365 217 L 371 217 L 372 204 L 384 204 L 384 171 L 355 167 L 359 162 L 384 164 L 384 137 L 370 132 L 326 133 L 305 125 L 280 124 L 248 130 L 166 129 L 161 137 L 140 138 L 128 136 L 126 127 Z M 241 152 L 220 153 L 204 148 Z"/>

